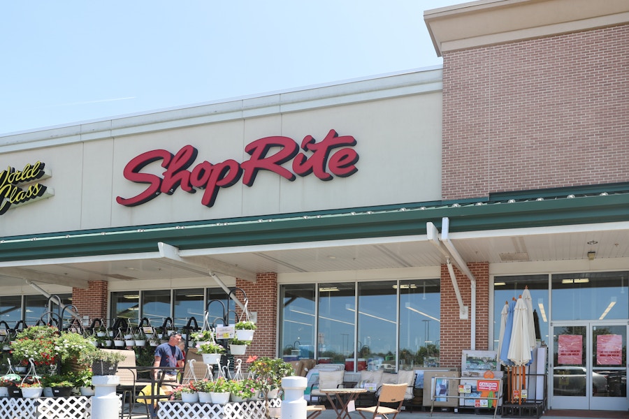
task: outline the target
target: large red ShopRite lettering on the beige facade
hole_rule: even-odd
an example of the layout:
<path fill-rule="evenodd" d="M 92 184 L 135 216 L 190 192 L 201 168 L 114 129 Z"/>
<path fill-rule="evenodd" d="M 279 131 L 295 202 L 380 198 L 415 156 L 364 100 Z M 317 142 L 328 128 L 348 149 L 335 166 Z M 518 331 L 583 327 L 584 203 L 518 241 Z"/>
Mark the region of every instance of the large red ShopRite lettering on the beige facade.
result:
<path fill-rule="evenodd" d="M 251 156 L 247 161 L 238 163 L 227 159 L 221 163 L 203 161 L 188 170 L 198 155 L 198 150 L 185 145 L 173 156 L 164 149 L 145 152 L 131 159 L 124 168 L 124 178 L 131 182 L 148 184 L 142 193 L 132 198 L 118 196 L 116 202 L 126 207 L 142 205 L 159 196 L 160 193 L 172 195 L 178 188 L 188 193 L 196 193 L 196 189 L 204 189 L 201 203 L 212 207 L 221 188 L 229 188 L 241 178 L 243 184 L 253 186 L 260 170 L 275 172 L 277 175 L 294 181 L 296 175 L 301 177 L 314 174 L 317 178 L 328 181 L 337 177 L 348 177 L 358 171 L 356 162 L 359 155 L 354 149 L 356 145 L 351 135 L 338 135 L 330 130 L 328 135 L 316 142 L 312 135 L 307 135 L 299 145 L 289 137 L 273 136 L 260 138 L 245 147 Z M 166 169 L 162 177 L 142 172 L 142 170 L 161 160 L 161 167 Z M 282 164 L 292 160 L 292 172 Z"/>

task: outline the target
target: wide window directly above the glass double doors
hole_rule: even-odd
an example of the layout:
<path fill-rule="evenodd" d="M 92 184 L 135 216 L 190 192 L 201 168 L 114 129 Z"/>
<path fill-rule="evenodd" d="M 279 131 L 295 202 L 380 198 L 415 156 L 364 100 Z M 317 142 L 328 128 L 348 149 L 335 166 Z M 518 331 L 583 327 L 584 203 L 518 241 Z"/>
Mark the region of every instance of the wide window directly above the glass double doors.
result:
<path fill-rule="evenodd" d="M 628 272 L 554 274 L 553 320 L 629 317 Z"/>

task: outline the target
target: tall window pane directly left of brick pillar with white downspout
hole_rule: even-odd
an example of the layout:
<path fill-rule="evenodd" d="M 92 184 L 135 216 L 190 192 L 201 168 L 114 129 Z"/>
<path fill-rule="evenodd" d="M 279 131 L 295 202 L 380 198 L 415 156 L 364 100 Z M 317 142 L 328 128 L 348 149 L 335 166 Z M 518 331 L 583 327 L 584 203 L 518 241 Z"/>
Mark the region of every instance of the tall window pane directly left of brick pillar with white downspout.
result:
<path fill-rule="evenodd" d="M 400 281 L 400 369 L 439 367 L 439 279 Z"/>

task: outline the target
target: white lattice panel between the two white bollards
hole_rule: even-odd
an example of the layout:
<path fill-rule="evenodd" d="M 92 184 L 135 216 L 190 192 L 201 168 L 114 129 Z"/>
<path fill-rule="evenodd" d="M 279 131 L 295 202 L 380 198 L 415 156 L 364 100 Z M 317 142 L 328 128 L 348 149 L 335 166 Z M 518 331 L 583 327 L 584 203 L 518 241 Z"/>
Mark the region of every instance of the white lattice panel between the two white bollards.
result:
<path fill-rule="evenodd" d="M 270 399 L 269 408 L 279 413 L 280 399 Z M 277 415 L 279 416 L 279 415 Z M 186 419 L 260 419 L 266 418 L 266 402 L 243 403 L 185 403 L 180 401 L 159 402 L 157 404 L 157 418 L 186 418 Z"/>

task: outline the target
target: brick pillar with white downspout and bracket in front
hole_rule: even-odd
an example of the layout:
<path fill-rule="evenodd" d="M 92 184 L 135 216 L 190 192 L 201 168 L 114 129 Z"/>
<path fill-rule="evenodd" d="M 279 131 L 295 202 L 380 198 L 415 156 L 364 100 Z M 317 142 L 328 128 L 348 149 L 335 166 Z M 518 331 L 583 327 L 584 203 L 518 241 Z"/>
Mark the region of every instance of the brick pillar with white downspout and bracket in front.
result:
<path fill-rule="evenodd" d="M 477 351 L 489 350 L 489 263 L 468 263 L 476 278 L 476 347 Z M 471 284 L 470 279 L 454 267 L 463 305 L 468 306 L 468 320 L 459 318 L 458 301 L 447 265 L 441 265 L 441 333 L 440 365 L 461 367 L 461 351 L 470 349 L 471 333 Z"/>

